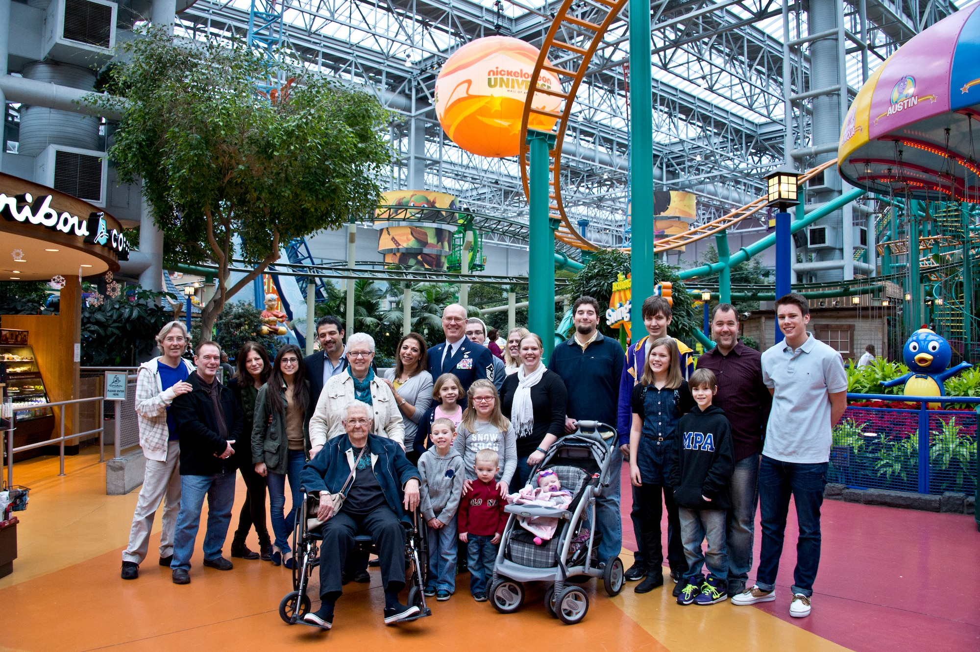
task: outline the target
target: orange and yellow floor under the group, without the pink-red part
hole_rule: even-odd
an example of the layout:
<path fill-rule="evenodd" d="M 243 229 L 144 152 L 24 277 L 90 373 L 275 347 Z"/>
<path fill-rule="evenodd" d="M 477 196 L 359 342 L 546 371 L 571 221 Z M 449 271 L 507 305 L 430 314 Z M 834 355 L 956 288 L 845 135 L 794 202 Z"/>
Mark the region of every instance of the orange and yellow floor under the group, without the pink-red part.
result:
<path fill-rule="evenodd" d="M 489 603 L 474 602 L 462 576 L 451 600 L 431 602 L 431 618 L 384 627 L 383 593 L 373 568 L 370 584 L 345 587 L 334 629 L 290 627 L 277 613 L 280 598 L 291 589 L 290 572 L 241 559 L 234 560 L 231 572 L 205 569 L 203 532 L 189 585 L 173 584 L 170 569 L 155 563 L 159 520 L 139 579 L 121 580 L 120 553 L 138 491 L 105 495 L 104 469 L 97 451 L 68 458 L 65 477 L 57 476 L 57 458 L 15 466 L 15 482 L 30 487 L 31 494 L 28 509 L 20 513 L 20 557 L 13 575 L 0 579 L 0 650 L 848 649 L 761 609 L 727 602 L 678 607 L 669 587 L 637 595 L 633 584 L 609 598 L 595 582 L 590 582 L 588 615 L 577 626 L 546 614 L 541 586 L 529 589 L 520 612 L 502 615 Z M 243 498 L 239 482 L 235 515 Z M 257 547 L 254 535 L 249 543 Z M 629 555 L 623 551 L 627 566 Z"/>

